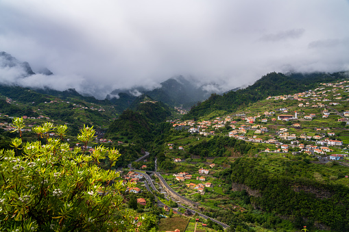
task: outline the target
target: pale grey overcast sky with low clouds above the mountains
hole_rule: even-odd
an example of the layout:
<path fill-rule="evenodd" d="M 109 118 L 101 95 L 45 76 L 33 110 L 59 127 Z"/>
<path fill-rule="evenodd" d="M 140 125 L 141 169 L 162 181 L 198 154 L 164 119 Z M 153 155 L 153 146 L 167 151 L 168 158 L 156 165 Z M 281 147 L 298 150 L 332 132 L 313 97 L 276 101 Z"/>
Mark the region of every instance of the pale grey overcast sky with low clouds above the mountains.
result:
<path fill-rule="evenodd" d="M 55 73 L 25 86 L 101 97 L 184 75 L 229 90 L 273 71 L 349 70 L 348 25 L 348 0 L 0 0 L 0 51 Z"/>

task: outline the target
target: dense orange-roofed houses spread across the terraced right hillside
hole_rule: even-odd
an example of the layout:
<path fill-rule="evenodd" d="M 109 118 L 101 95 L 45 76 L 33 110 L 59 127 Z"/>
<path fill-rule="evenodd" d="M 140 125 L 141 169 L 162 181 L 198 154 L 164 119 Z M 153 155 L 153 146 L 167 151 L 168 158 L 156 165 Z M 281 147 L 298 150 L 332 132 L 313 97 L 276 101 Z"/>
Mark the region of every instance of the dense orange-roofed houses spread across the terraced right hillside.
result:
<path fill-rule="evenodd" d="M 316 88 L 315 90 L 308 90 L 305 92 L 300 92 L 297 94 L 293 95 L 282 95 L 282 96 L 269 96 L 267 99 L 273 99 L 273 100 L 287 100 L 287 99 L 293 99 L 293 100 L 298 100 L 298 101 L 303 101 L 302 103 L 298 104 L 298 107 L 315 107 L 315 108 L 320 108 L 320 107 L 326 107 L 324 103 L 321 102 L 316 102 L 316 101 L 323 101 L 323 97 L 327 97 L 326 99 L 331 99 L 330 96 L 333 96 L 333 101 L 334 103 L 337 103 L 336 101 L 343 101 L 341 100 L 341 94 L 338 93 L 338 90 L 345 90 L 344 92 L 348 92 L 349 90 L 349 85 L 346 81 L 341 81 L 337 83 L 322 83 L 324 86 L 323 88 Z M 325 90 L 325 87 L 331 87 L 332 89 L 330 90 Z M 305 101 L 305 102 L 304 102 Z M 314 103 L 309 103 L 309 101 L 313 101 Z M 328 100 L 329 101 L 329 100 Z M 275 112 L 264 112 L 263 116 L 265 118 L 261 118 L 262 115 L 258 114 L 256 116 L 246 116 L 245 114 L 235 114 L 232 116 L 235 117 L 240 117 L 242 120 L 245 120 L 246 123 L 252 124 L 255 123 L 256 120 L 260 120 L 262 123 L 267 123 L 268 120 L 272 120 L 276 122 L 276 120 L 284 120 L 284 121 L 291 121 L 291 120 L 298 120 L 300 118 L 300 115 L 298 112 L 294 112 L 294 114 L 287 114 L 288 109 L 286 108 L 280 108 L 277 109 L 278 111 L 282 112 L 278 116 L 275 116 Z M 328 112 L 328 109 L 324 109 L 321 111 L 322 118 L 328 118 L 330 115 L 330 112 Z M 204 120 L 202 122 L 196 122 L 193 120 L 186 120 L 182 123 L 176 122 L 176 124 L 173 124 L 173 127 L 183 127 L 183 129 L 188 128 L 188 131 L 191 133 L 200 133 L 203 134 L 204 136 L 208 135 L 215 135 L 215 131 L 210 131 L 210 128 L 217 129 L 219 127 L 224 127 L 226 123 L 229 123 L 230 127 L 232 128 L 232 131 L 229 132 L 228 136 L 232 138 L 236 138 L 238 140 L 246 140 L 249 142 L 258 142 L 258 143 L 270 143 L 270 144 L 276 144 L 276 145 L 282 145 L 281 142 L 273 138 L 272 136 L 271 139 L 267 138 L 257 138 L 261 136 L 257 136 L 258 134 L 263 134 L 269 132 L 269 129 L 267 127 L 263 127 L 261 125 L 240 125 L 235 126 L 234 124 L 237 123 L 237 121 L 232 120 L 232 116 L 225 116 L 223 118 L 215 118 L 214 120 Z M 317 115 L 316 114 L 306 114 L 303 115 L 302 118 L 307 119 L 307 120 L 312 120 L 315 118 Z M 349 117 L 349 111 L 344 111 L 343 116 L 348 116 Z M 268 117 L 272 117 L 269 118 Z M 339 118 L 339 121 L 344 121 L 346 122 L 347 125 L 349 125 L 349 120 L 347 118 Z M 195 126 L 196 125 L 196 126 Z M 294 128 L 300 128 L 301 124 L 300 123 L 293 123 L 292 127 Z M 252 138 L 247 138 L 245 137 L 245 134 L 248 133 L 248 130 L 254 130 L 254 136 Z M 207 130 L 207 131 L 206 131 Z M 322 129 L 316 129 L 316 131 L 321 131 Z M 291 144 L 296 142 L 298 144 L 298 141 L 294 140 L 315 140 L 315 143 L 317 145 L 322 145 L 322 146 L 342 146 L 343 142 L 339 140 L 330 140 L 329 138 L 324 138 L 324 133 L 319 133 L 317 135 L 312 135 L 308 136 L 306 134 L 298 135 L 296 136 L 296 133 L 287 133 L 287 128 L 282 128 L 280 131 L 276 131 L 276 135 L 278 138 L 282 140 L 290 140 Z M 334 134 L 328 133 L 328 136 L 334 136 Z M 270 137 L 269 137 L 270 138 Z M 173 149 L 173 144 L 169 144 L 169 149 Z M 180 146 L 178 149 L 183 149 L 182 146 Z M 321 150 L 321 149 L 319 149 Z M 315 153 L 322 153 L 323 150 L 319 151 L 314 149 Z M 272 151 L 269 151 L 272 152 Z M 276 150 L 276 152 L 288 152 L 287 148 L 281 148 Z M 180 162 L 180 159 L 175 159 L 175 162 Z"/>

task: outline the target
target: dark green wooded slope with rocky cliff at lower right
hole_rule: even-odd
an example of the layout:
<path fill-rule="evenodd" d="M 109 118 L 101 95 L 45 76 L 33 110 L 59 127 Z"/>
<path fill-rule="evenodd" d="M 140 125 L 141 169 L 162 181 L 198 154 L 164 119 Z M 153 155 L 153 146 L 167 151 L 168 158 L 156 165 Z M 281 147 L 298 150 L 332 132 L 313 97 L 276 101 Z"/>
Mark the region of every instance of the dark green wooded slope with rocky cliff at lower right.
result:
<path fill-rule="evenodd" d="M 282 162 L 281 171 L 274 173 L 261 162 L 256 158 L 237 159 L 220 176 L 226 183 L 241 183 L 256 190 L 258 194 L 249 196 L 246 203 L 250 201 L 256 209 L 288 216 L 295 227 L 307 225 L 310 229 L 314 224 L 324 224 L 335 231 L 349 229 L 348 186 L 323 182 L 318 177 L 321 174 L 312 172 L 315 164 Z"/>

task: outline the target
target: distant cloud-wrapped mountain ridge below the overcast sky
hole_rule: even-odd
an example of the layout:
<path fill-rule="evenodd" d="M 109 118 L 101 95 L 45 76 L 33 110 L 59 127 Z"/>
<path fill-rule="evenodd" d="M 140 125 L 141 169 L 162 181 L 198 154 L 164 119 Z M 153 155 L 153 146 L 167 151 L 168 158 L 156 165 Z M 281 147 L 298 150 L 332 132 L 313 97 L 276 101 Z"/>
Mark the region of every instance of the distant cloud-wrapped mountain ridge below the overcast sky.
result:
<path fill-rule="evenodd" d="M 21 62 L 9 53 L 0 53 L 0 83 L 7 86 L 21 86 L 34 90 L 76 90 L 83 96 L 95 96 L 96 99 L 108 99 L 114 103 L 127 96 L 135 99 L 142 94 L 161 99 L 169 105 L 181 105 L 204 101 L 210 94 L 225 91 L 217 83 L 201 83 L 194 77 L 176 76 L 158 83 L 154 88 L 134 86 L 110 90 L 109 86 L 98 86 L 82 76 L 56 75 L 46 67 L 32 70 L 28 62 Z M 112 85 L 112 83 L 111 83 Z"/>

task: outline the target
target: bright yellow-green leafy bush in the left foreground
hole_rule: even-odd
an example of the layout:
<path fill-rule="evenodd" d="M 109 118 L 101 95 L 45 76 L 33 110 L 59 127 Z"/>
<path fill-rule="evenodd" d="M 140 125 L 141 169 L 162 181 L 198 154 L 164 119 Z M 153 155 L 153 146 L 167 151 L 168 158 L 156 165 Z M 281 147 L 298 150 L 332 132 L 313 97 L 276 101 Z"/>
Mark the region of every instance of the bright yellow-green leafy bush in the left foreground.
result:
<path fill-rule="evenodd" d="M 94 138 L 94 133 L 84 135 L 86 127 L 80 132 L 83 142 Z M 119 174 L 98 166 L 106 155 L 110 165 L 115 163 L 120 156 L 117 150 L 98 146 L 96 153 L 86 155 L 81 149 L 70 151 L 69 144 L 53 138 L 16 146 L 22 146 L 21 155 L 12 149 L 0 151 L 0 231 L 130 231 L 136 227 L 135 212 L 122 205 L 125 187 L 117 181 Z"/>

